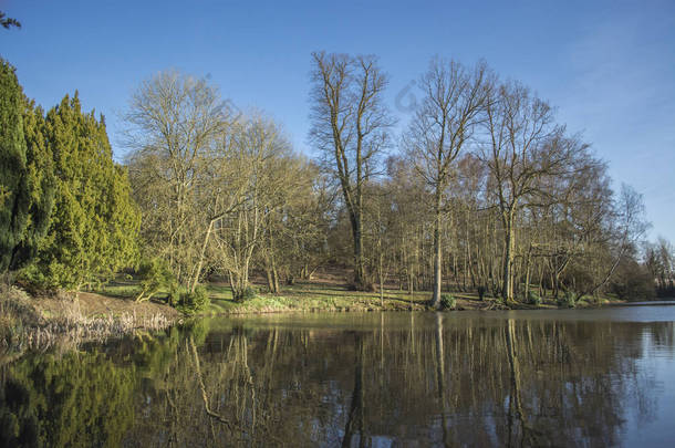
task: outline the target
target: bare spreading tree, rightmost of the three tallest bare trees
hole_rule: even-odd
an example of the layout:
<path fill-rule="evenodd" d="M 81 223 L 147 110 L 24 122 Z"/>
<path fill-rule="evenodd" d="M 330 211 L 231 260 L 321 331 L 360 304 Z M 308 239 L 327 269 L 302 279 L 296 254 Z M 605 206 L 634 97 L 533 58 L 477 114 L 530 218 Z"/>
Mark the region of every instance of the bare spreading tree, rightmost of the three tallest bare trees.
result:
<path fill-rule="evenodd" d="M 529 88 L 509 82 L 487 102 L 487 145 L 481 158 L 494 183 L 503 226 L 501 296 L 513 299 L 513 259 L 518 210 L 529 197 L 541 196 L 541 179 L 561 179 L 574 168 L 574 158 L 588 145 L 564 135 L 553 119 L 553 108 Z"/>

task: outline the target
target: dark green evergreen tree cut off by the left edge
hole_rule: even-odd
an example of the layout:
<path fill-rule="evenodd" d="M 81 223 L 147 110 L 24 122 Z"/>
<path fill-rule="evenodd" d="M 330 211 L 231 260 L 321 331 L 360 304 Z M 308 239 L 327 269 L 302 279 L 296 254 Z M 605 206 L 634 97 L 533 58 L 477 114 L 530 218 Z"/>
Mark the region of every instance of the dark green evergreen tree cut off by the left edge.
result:
<path fill-rule="evenodd" d="M 10 267 L 28 221 L 23 93 L 14 67 L 0 59 L 0 272 Z"/>

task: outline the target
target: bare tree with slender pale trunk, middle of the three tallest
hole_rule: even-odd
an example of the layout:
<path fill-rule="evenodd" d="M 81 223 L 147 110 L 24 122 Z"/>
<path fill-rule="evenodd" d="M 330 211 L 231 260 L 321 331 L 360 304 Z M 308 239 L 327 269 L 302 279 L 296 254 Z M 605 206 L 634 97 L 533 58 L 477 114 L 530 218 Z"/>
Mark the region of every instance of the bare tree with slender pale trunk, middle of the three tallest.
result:
<path fill-rule="evenodd" d="M 446 188 L 454 162 L 474 135 L 492 86 L 485 63 L 466 69 L 456 61 L 435 59 L 422 76 L 424 98 L 415 113 L 405 144 L 417 173 L 433 194 L 434 284 L 432 305 L 440 303 L 442 228 L 447 211 Z"/>

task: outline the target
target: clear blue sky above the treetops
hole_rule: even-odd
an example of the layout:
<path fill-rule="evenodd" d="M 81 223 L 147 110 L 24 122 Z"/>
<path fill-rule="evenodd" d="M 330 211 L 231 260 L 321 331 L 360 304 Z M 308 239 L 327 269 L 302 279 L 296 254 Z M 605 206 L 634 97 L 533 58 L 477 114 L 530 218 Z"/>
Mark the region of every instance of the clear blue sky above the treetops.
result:
<path fill-rule="evenodd" d="M 559 121 L 609 162 L 615 187 L 644 195 L 650 236 L 675 242 L 673 0 L 0 0 L 0 10 L 23 24 L 0 30 L 0 54 L 27 95 L 49 108 L 79 90 L 87 110 L 106 116 L 118 159 L 118 114 L 135 86 L 164 69 L 209 75 L 226 98 L 266 111 L 311 154 L 312 51 L 377 54 L 402 124 L 409 113 L 396 97 L 433 55 L 486 59 L 557 105 Z"/>

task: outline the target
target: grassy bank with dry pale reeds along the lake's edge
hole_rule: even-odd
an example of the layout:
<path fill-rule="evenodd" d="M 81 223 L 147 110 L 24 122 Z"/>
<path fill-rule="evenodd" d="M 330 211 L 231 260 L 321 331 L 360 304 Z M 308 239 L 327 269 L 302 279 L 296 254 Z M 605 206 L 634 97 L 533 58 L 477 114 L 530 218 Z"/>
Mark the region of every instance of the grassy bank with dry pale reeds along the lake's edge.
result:
<path fill-rule="evenodd" d="M 236 302 L 225 283 L 207 285 L 210 303 L 194 319 L 216 315 L 311 312 L 377 312 L 428 311 L 429 293 L 408 294 L 399 290 L 378 292 L 351 291 L 335 282 L 314 281 L 288 285 L 281 294 L 258 293 L 255 298 Z M 58 293 L 29 296 L 17 288 L 2 286 L 0 300 L 0 344 L 4 347 L 44 347 L 56 340 L 77 344 L 103 341 L 137 331 L 157 331 L 181 321 L 185 316 L 166 304 L 162 294 L 154 301 L 137 303 L 137 284 L 120 280 L 97 292 Z M 446 311 L 546 310 L 558 309 L 552 298 L 540 305 L 526 303 L 502 304 L 477 294 L 454 293 L 455 305 Z M 580 300 L 577 308 L 598 308 L 624 301 L 602 299 L 600 302 Z"/>

